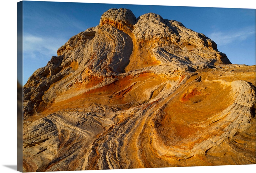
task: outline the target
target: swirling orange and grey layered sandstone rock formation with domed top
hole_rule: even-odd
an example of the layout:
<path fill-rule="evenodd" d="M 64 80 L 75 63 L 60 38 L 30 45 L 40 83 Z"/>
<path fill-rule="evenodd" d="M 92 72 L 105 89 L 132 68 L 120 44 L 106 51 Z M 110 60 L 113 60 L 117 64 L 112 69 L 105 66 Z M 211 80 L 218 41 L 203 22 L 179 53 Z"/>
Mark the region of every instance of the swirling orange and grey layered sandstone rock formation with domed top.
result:
<path fill-rule="evenodd" d="M 24 85 L 23 170 L 255 164 L 255 66 L 110 9 Z"/>

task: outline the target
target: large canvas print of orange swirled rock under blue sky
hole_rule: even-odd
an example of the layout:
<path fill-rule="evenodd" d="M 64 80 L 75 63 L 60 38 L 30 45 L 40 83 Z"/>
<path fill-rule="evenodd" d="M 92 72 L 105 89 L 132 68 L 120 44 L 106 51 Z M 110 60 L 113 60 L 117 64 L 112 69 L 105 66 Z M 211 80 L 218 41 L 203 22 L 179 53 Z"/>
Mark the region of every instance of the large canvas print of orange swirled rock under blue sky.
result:
<path fill-rule="evenodd" d="M 19 14 L 19 171 L 255 164 L 255 9 L 22 1 Z"/>

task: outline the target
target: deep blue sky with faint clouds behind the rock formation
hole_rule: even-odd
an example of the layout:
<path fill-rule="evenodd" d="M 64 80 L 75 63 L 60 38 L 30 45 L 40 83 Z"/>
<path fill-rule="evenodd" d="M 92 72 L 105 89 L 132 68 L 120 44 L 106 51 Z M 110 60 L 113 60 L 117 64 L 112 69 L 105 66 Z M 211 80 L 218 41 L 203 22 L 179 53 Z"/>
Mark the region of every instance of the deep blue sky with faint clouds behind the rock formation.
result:
<path fill-rule="evenodd" d="M 23 84 L 57 56 L 69 38 L 97 26 L 110 8 L 128 8 L 136 17 L 151 12 L 180 21 L 215 41 L 231 63 L 255 64 L 255 9 L 39 1 L 24 1 L 23 8 Z"/>

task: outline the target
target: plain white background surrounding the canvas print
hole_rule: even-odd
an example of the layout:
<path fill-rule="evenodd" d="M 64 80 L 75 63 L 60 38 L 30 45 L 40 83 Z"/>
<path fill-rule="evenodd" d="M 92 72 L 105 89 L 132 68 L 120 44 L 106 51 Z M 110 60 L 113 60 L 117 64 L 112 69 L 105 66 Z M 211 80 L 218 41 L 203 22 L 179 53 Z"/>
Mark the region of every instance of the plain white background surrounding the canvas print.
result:
<path fill-rule="evenodd" d="M 44 0 L 41 0 L 44 1 Z M 49 0 L 52 1 L 52 0 Z M 59 1 L 59 0 L 55 0 Z M 15 0 L 1 1 L 0 5 L 0 29 L 1 29 L 1 163 L 0 172 L 16 172 L 17 167 L 17 2 Z M 60 2 L 90 2 L 88 0 L 60 1 Z M 142 1 L 130 0 L 94 0 L 93 3 L 115 4 L 147 4 L 147 5 L 171 5 L 171 6 L 200 6 L 200 7 L 229 7 L 229 8 L 256 8 L 252 0 L 230 1 Z M 207 167 L 180 167 L 180 168 L 147 168 L 147 169 L 123 169 L 123 170 L 96 170 L 96 171 L 66 171 L 87 173 L 115 173 L 126 172 L 254 172 L 256 165 L 234 166 L 207 166 Z M 63 173 L 63 171 L 59 171 Z"/>

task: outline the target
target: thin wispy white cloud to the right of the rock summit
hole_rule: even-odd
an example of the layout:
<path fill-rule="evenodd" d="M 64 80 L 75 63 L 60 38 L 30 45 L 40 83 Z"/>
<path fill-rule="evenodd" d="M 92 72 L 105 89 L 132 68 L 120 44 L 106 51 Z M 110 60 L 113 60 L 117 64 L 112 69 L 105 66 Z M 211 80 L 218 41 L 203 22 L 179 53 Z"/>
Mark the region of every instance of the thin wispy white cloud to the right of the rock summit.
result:
<path fill-rule="evenodd" d="M 209 38 L 217 43 L 218 46 L 224 46 L 232 43 L 233 41 L 243 41 L 248 37 L 255 34 L 254 27 L 243 28 L 236 31 L 226 31 L 226 32 L 215 32 L 209 35 Z"/>

